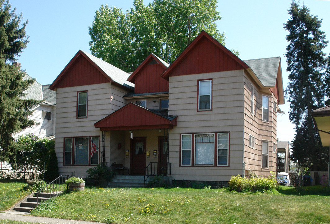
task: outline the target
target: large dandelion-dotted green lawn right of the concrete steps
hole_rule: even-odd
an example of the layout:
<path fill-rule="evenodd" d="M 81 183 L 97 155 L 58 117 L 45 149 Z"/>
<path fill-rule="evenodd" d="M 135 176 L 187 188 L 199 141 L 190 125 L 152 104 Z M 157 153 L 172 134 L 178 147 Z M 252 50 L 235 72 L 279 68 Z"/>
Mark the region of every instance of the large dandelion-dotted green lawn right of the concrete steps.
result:
<path fill-rule="evenodd" d="M 86 188 L 31 214 L 106 223 L 330 223 L 329 191 L 230 193 L 225 189 Z M 319 195 L 319 194 L 322 195 Z"/>

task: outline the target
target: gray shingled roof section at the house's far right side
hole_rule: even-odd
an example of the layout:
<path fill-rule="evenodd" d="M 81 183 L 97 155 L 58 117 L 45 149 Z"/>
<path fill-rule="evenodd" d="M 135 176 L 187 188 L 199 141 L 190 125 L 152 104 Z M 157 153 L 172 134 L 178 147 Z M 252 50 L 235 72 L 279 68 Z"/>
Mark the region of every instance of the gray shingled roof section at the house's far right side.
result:
<path fill-rule="evenodd" d="M 264 86 L 275 86 L 280 57 L 244 60 Z"/>

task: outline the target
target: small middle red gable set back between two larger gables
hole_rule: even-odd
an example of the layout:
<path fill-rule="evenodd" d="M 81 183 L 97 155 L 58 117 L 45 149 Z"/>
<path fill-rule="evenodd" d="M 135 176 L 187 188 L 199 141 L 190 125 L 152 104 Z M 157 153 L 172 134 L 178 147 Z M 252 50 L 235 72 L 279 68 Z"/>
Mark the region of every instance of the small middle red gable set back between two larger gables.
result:
<path fill-rule="evenodd" d="M 160 77 L 168 66 L 166 62 L 151 53 L 127 81 L 135 84 L 134 93 L 168 92 L 168 81 Z"/>

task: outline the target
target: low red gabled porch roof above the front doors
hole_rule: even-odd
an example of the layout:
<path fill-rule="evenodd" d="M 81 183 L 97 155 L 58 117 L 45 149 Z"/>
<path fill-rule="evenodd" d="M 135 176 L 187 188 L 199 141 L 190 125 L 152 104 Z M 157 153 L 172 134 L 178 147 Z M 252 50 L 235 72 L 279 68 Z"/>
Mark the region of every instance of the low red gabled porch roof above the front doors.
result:
<path fill-rule="evenodd" d="M 177 125 L 177 116 L 167 111 L 149 110 L 129 103 L 94 124 L 101 131 L 170 128 Z"/>

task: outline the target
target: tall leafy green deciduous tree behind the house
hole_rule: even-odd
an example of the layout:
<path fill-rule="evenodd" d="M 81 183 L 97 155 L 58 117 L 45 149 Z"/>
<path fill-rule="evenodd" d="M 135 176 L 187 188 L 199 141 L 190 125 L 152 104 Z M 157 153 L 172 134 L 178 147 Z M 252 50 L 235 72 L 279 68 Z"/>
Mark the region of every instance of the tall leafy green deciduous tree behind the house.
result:
<path fill-rule="evenodd" d="M 216 0 L 154 0 L 149 5 L 135 0 L 126 14 L 102 5 L 89 27 L 90 51 L 127 72 L 150 53 L 172 63 L 203 29 L 225 43 L 215 24 L 221 19 L 216 5 Z"/>

